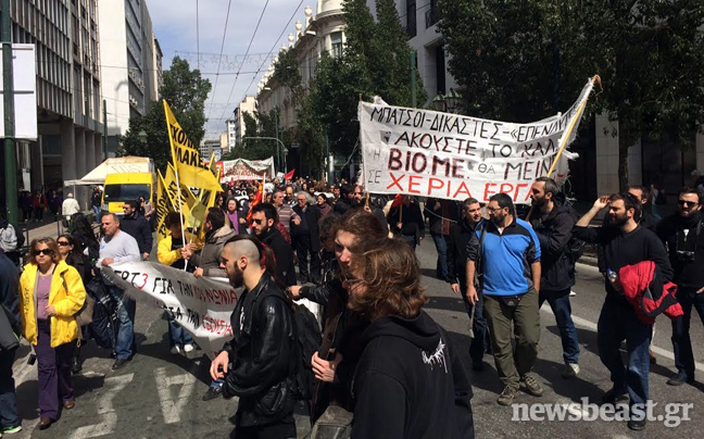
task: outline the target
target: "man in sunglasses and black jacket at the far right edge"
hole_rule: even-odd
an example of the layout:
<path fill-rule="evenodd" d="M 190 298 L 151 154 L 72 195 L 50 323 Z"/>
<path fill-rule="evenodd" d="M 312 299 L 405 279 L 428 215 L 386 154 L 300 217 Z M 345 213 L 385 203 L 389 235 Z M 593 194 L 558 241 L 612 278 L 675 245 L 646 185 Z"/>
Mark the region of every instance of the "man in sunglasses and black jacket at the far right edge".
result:
<path fill-rule="evenodd" d="M 680 190 L 677 213 L 663 220 L 657 235 L 665 242 L 675 271 L 672 281 L 679 287 L 677 301 L 684 315 L 672 321 L 672 348 L 677 375 L 667 384 L 681 386 L 694 382 L 694 354 L 690 339 L 692 308 L 704 323 L 704 233 L 702 233 L 702 199 L 694 188 Z"/>

